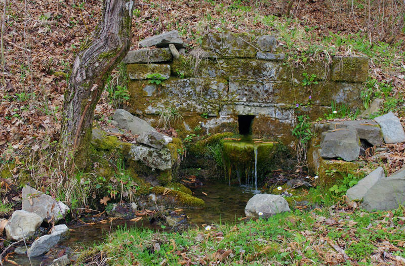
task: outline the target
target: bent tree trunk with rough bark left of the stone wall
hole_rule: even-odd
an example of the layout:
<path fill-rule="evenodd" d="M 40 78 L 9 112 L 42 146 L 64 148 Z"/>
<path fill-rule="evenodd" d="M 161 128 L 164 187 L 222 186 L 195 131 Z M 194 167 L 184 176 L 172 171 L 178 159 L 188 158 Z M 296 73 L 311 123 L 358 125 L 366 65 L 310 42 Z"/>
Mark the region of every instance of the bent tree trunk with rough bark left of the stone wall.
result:
<path fill-rule="evenodd" d="M 104 0 L 95 38 L 74 60 L 60 136 L 61 159 L 71 169 L 86 166 L 94 109 L 109 73 L 129 50 L 133 7 L 133 0 Z"/>

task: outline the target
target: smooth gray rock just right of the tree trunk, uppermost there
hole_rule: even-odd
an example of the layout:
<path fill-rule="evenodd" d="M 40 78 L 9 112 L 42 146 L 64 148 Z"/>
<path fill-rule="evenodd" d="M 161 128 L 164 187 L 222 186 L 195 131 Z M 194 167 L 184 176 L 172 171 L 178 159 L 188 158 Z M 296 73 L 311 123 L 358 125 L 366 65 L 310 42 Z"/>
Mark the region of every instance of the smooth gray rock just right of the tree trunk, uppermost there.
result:
<path fill-rule="evenodd" d="M 133 135 L 140 135 L 143 132 L 155 130 L 148 124 L 148 122 L 132 115 L 124 109 L 117 109 L 114 113 L 113 119 L 117 123 L 117 127 L 127 129 Z"/>

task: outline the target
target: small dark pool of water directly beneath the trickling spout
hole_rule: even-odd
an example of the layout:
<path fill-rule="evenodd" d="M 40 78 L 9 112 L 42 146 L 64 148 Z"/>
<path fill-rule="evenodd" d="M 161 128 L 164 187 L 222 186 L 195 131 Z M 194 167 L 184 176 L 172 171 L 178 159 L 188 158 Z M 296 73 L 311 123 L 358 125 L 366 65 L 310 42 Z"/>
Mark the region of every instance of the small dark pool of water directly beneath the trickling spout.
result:
<path fill-rule="evenodd" d="M 204 209 L 184 210 L 190 218 L 190 223 L 197 226 L 238 221 L 238 218 L 245 217 L 248 200 L 260 193 L 249 186 L 228 186 L 213 181 L 208 181 L 206 185 L 192 191 L 195 197 L 203 199 L 206 203 Z"/>

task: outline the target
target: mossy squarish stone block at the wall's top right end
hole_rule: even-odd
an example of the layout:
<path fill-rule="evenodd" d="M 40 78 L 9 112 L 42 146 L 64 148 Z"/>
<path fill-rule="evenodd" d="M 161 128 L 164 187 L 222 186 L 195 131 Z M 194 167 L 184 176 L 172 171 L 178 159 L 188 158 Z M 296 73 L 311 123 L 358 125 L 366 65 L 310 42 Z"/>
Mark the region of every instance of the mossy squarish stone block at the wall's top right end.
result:
<path fill-rule="evenodd" d="M 369 58 L 361 56 L 334 56 L 331 79 L 347 82 L 365 82 L 369 72 Z"/>

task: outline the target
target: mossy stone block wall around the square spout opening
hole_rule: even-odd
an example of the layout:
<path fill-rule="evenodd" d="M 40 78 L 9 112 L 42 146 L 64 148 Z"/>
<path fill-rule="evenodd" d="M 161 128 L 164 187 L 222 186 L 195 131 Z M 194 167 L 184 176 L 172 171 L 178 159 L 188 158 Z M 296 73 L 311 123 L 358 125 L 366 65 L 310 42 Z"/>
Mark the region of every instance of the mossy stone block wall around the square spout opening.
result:
<path fill-rule="evenodd" d="M 129 52 L 128 111 L 157 125 L 160 113 L 177 110 L 184 121 L 176 127 L 183 134 L 198 125 L 206 132 L 237 131 L 239 115 L 254 115 L 254 135 L 290 144 L 296 104 L 305 105 L 301 113 L 313 119 L 330 112 L 331 102 L 362 106 L 366 57 L 334 56 L 331 62 L 308 59 L 297 64 L 274 36 L 234 33 L 207 34 L 200 47 L 181 52 L 175 57 L 169 48 Z M 303 86 L 303 73 L 314 74 L 317 82 Z M 151 74 L 159 74 L 163 82 L 151 83 Z"/>

